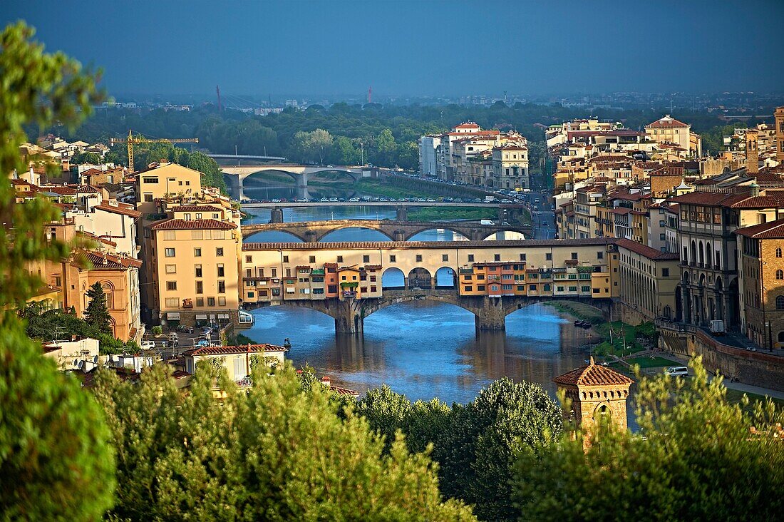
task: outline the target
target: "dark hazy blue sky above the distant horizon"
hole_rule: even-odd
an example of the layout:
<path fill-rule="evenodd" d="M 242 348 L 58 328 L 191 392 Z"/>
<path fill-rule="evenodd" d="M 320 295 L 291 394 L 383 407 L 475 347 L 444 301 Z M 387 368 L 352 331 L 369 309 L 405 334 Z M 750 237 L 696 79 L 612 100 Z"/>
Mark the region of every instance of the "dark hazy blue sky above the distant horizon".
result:
<path fill-rule="evenodd" d="M 111 93 L 784 89 L 784 0 L 0 0 Z"/>

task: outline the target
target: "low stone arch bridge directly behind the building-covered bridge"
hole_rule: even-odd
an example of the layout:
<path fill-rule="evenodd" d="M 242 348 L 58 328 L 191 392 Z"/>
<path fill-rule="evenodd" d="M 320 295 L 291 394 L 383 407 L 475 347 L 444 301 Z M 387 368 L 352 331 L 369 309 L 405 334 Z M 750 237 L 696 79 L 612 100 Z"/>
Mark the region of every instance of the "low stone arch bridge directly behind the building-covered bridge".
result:
<path fill-rule="evenodd" d="M 257 232 L 287 232 L 304 243 L 318 243 L 325 235 L 343 228 L 368 228 L 386 235 L 391 241 L 408 241 L 426 230 L 443 228 L 456 232 L 472 241 L 487 239 L 495 232 L 519 232 L 524 237 L 532 235 L 530 225 L 477 224 L 462 221 L 392 221 L 377 219 L 339 219 L 330 221 L 300 221 L 289 223 L 243 224 L 244 238 Z"/>

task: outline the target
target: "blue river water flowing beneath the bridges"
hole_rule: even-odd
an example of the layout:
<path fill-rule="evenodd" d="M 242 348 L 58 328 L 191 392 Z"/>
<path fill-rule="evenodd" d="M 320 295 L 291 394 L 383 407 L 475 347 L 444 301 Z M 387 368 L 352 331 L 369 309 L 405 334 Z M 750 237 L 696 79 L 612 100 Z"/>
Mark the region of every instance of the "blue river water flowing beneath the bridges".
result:
<path fill-rule="evenodd" d="M 243 222 L 269 221 L 268 210 L 251 212 Z M 394 208 L 379 207 L 284 210 L 284 221 L 394 217 Z M 414 239 L 460 238 L 449 231 L 432 230 Z M 389 239 L 361 228 L 332 232 L 325 238 L 373 240 Z M 246 241 L 299 240 L 282 232 L 262 232 Z M 385 287 L 397 284 L 402 281 L 383 280 Z M 553 378 L 584 364 L 590 344 L 596 341 L 590 330 L 575 327 L 572 319 L 546 305 L 532 305 L 507 316 L 505 332 L 478 333 L 470 312 L 429 301 L 394 305 L 373 313 L 365 318 L 365 333 L 361 336 L 336 334 L 333 319 L 313 310 L 274 306 L 252 313 L 256 323 L 243 333 L 254 341 L 272 344 L 282 344 L 289 338 L 292 349 L 288 358 L 296 367 L 307 363 L 318 374 L 330 376 L 333 383 L 358 392 L 387 384 L 412 400 L 438 397 L 446 403 L 470 402 L 482 387 L 505 376 L 538 382 L 554 396 Z"/>

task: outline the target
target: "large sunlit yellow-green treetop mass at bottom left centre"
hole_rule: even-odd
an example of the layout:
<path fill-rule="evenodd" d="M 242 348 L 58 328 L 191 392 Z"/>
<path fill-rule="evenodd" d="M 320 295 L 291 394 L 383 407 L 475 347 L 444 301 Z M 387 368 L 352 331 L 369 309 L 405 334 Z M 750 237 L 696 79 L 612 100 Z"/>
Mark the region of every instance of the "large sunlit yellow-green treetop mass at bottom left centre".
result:
<path fill-rule="evenodd" d="M 264 369 L 263 371 L 267 371 Z M 160 365 L 129 385 L 100 372 L 96 396 L 118 448 L 114 515 L 130 520 L 472 520 L 442 502 L 429 458 L 383 442 L 325 387 L 286 368 L 239 393 L 209 371 L 182 394 Z"/>

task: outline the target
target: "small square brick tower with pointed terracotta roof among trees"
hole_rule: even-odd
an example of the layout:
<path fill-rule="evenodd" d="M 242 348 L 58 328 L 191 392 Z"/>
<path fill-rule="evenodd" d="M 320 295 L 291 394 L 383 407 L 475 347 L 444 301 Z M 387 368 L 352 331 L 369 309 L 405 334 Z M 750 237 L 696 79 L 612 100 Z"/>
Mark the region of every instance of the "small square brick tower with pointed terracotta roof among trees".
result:
<path fill-rule="evenodd" d="M 593 362 L 554 378 L 558 389 L 572 400 L 572 408 L 564 409 L 564 423 L 574 421 L 586 433 L 601 417 L 626 429 L 626 399 L 634 382 L 624 374 Z M 605 417 L 606 416 L 606 417 Z"/>

